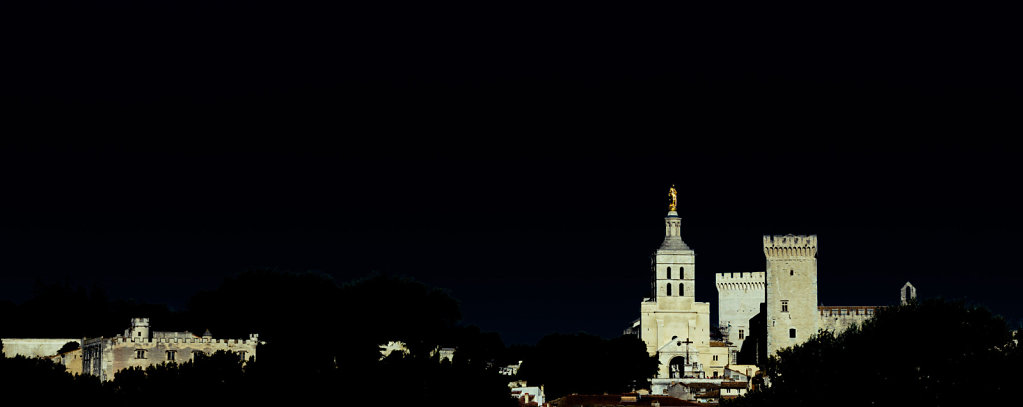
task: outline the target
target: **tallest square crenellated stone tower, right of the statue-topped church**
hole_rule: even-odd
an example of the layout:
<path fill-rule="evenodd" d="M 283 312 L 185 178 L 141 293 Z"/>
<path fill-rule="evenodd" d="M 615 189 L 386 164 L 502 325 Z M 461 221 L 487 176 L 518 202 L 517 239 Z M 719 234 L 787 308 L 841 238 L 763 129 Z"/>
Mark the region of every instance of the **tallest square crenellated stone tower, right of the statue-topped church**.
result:
<path fill-rule="evenodd" d="M 817 236 L 764 236 L 767 355 L 817 333 Z"/>

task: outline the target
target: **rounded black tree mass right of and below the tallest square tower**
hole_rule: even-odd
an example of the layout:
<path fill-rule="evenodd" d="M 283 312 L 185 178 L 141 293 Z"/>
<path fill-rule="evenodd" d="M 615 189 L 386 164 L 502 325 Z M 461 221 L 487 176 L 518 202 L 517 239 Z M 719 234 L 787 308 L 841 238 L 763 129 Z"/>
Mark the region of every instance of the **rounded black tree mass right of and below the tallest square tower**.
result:
<path fill-rule="evenodd" d="M 959 302 L 915 302 L 779 352 L 764 366 L 769 387 L 729 404 L 991 404 L 1018 389 L 1020 362 L 1000 317 Z"/>

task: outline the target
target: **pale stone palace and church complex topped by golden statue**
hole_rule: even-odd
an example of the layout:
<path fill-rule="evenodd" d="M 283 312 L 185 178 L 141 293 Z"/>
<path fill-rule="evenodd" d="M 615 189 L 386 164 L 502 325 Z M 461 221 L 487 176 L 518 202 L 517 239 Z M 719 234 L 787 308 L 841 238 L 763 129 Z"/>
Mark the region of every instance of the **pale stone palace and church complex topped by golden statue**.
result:
<path fill-rule="evenodd" d="M 696 301 L 696 253 L 681 238 L 675 189 L 664 240 L 652 258 L 652 296 L 625 330 L 660 361 L 652 394 L 678 382 L 749 377 L 760 361 L 820 329 L 840 332 L 874 315 L 876 306 L 817 306 L 817 236 L 763 236 L 765 271 L 716 273 L 718 320 Z M 902 302 L 916 298 L 908 282 Z"/>

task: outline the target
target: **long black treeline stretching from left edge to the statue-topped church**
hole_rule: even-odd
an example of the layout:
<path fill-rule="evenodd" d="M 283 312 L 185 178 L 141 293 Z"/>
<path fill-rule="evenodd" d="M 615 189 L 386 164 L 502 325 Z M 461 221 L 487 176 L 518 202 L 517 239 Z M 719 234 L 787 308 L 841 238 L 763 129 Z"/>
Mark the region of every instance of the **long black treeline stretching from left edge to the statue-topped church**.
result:
<path fill-rule="evenodd" d="M 98 289 L 40 284 L 35 298 L 5 303 L 2 311 L 0 336 L 6 337 L 112 336 L 131 317 L 149 317 L 154 330 L 210 329 L 216 337 L 259 333 L 266 342 L 258 359 L 244 365 L 233 354 L 217 353 L 123 370 L 109 382 L 73 377 L 44 360 L 0 361 L 5 392 L 46 404 L 294 404 L 325 398 L 500 406 L 516 405 L 507 388 L 513 379 L 545 385 L 548 397 L 614 393 L 646 387 L 657 366 L 635 337 L 550 335 L 535 347 L 507 348 L 496 333 L 459 324 L 458 303 L 444 290 L 384 275 L 339 283 L 319 273 L 253 271 L 196 293 L 183 311 L 109 301 Z M 391 341 L 407 344 L 408 354 L 381 359 L 381 345 Z M 452 361 L 439 360 L 435 351 L 441 347 L 455 349 Z M 498 374 L 500 366 L 519 361 L 518 377 Z"/>

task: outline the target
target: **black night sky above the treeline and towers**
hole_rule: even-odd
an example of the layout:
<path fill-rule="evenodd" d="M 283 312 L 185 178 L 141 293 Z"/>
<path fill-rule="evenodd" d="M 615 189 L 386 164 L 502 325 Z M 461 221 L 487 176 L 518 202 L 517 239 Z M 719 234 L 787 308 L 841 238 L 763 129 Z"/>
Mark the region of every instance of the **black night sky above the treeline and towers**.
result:
<path fill-rule="evenodd" d="M 1023 317 L 1015 10 L 29 7 L 5 13 L 0 299 L 377 270 L 506 343 L 611 336 L 674 183 L 701 301 L 763 269 L 762 234 L 816 233 L 825 305 L 911 280 Z"/>

